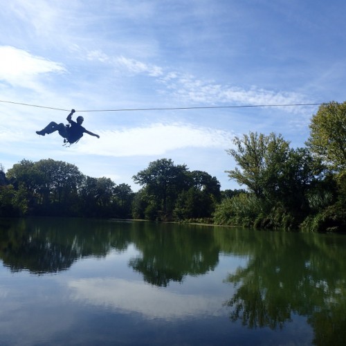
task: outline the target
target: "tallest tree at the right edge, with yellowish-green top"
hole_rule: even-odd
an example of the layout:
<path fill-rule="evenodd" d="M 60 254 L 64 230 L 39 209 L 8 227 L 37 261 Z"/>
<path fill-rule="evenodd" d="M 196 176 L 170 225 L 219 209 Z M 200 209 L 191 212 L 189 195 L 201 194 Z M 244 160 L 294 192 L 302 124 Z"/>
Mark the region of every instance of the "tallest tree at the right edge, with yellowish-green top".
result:
<path fill-rule="evenodd" d="M 344 232 L 346 226 L 346 102 L 322 104 L 311 118 L 307 147 L 325 165 L 310 197 L 314 215 L 302 227 Z"/>

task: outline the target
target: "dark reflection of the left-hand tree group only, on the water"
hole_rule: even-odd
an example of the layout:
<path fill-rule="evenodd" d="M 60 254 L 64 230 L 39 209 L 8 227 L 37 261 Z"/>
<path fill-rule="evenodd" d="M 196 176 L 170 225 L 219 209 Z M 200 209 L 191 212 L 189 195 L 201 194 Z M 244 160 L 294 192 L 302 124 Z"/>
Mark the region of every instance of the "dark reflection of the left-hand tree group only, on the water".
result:
<path fill-rule="evenodd" d="M 2 220 L 0 258 L 13 272 L 55 273 L 69 269 L 82 257 L 105 257 L 111 248 L 123 251 L 129 237 L 121 227 L 114 230 L 97 220 Z"/>

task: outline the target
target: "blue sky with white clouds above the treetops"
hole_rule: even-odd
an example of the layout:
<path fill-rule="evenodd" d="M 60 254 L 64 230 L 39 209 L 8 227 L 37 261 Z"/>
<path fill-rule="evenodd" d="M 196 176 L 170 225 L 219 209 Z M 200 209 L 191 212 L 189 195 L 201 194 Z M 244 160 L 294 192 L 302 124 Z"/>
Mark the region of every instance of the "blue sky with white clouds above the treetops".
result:
<path fill-rule="evenodd" d="M 309 136 L 318 106 L 92 111 L 345 101 L 342 0 L 0 0 L 0 163 L 66 161 L 83 174 L 140 186 L 151 161 L 216 176 L 233 137 Z M 62 147 L 37 136 L 70 109 L 84 135 Z"/>

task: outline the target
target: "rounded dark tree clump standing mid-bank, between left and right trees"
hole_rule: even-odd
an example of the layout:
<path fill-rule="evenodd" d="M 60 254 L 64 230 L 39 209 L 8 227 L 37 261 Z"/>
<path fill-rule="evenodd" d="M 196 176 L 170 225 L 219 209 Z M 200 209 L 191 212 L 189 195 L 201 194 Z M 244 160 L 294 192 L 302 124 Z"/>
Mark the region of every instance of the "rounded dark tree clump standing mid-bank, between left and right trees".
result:
<path fill-rule="evenodd" d="M 220 183 L 202 171 L 190 172 L 167 158 L 149 163 L 133 177 L 143 186 L 136 196 L 134 217 L 156 221 L 208 219 L 221 200 Z"/>

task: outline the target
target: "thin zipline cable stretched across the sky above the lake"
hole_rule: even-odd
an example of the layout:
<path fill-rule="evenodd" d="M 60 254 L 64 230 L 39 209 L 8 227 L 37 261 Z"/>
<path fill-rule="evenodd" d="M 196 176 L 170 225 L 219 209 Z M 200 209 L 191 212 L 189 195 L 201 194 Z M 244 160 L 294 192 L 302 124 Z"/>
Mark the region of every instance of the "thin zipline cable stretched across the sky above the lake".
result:
<path fill-rule="evenodd" d="M 54 107 L 39 106 L 37 104 L 28 104 L 21 102 L 12 102 L 0 100 L 3 103 L 19 104 L 21 106 L 39 107 L 46 109 L 55 109 L 56 111 L 71 111 L 71 109 L 62 109 Z M 251 108 L 251 107 L 300 107 L 300 106 L 319 106 L 322 103 L 292 103 L 292 104 L 245 104 L 242 106 L 201 106 L 201 107 L 167 107 L 167 108 L 123 108 L 123 109 L 90 109 L 79 112 L 96 112 L 96 111 L 173 111 L 179 109 L 219 109 L 219 108 Z M 76 110 L 78 112 L 78 110 Z"/>

